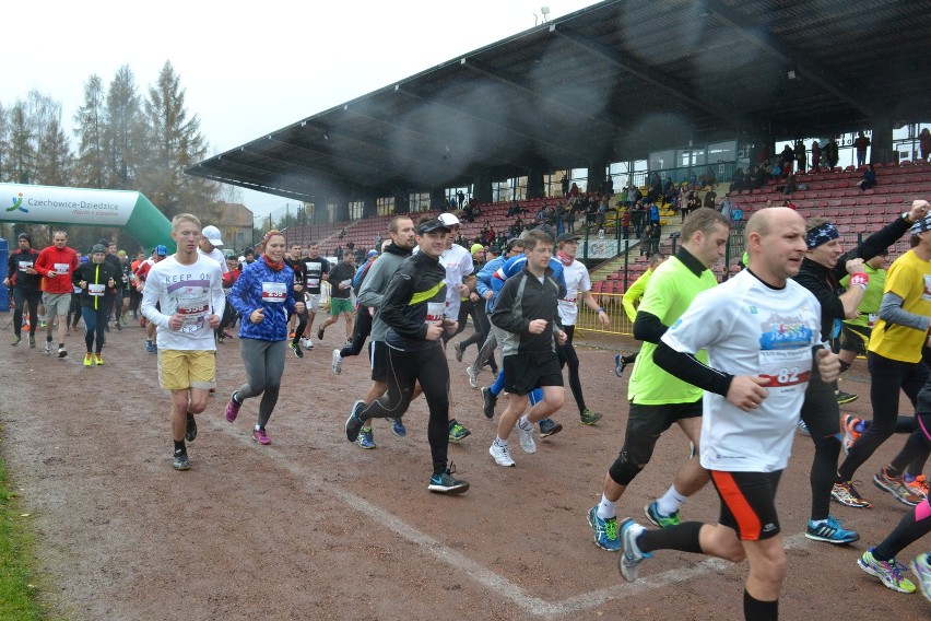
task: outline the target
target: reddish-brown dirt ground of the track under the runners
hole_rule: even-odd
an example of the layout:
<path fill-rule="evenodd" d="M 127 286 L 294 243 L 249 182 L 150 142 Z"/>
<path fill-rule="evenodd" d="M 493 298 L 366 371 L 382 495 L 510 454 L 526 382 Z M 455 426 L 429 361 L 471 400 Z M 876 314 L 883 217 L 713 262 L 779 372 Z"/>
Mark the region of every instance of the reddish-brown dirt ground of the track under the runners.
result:
<path fill-rule="evenodd" d="M 7 325 L 9 314 L 0 320 Z M 0 450 L 30 514 L 23 519 L 37 535 L 37 583 L 49 617 L 741 618 L 745 566 L 660 552 L 629 585 L 616 554 L 591 540 L 586 514 L 600 497 L 627 415 L 627 377 L 614 376 L 613 353 L 618 344 L 635 349 L 632 341 L 577 339 L 588 405 L 605 415 L 592 427 L 578 424 L 567 392 L 556 417 L 565 431 L 538 440 L 535 455 L 514 442 L 516 468 L 496 466 L 487 453 L 495 425 L 464 372 L 474 349 L 462 363 L 450 351 L 455 412 L 472 430 L 450 457 L 471 489 L 441 496 L 426 491 L 422 401 L 405 417 L 405 438 L 382 421 L 375 424 L 376 450 L 346 442 L 343 423 L 368 387 L 368 370 L 364 359 L 347 359 L 342 375 L 331 373 L 342 333 L 333 326 L 303 360 L 288 358 L 268 447 L 251 440 L 257 400 L 246 402 L 236 423 L 223 418 L 245 376 L 236 339 L 221 345 L 219 396 L 199 417 L 188 472 L 172 469 L 168 398 L 138 327 L 108 335 L 102 367 L 81 365 L 81 337 L 69 337 L 71 355 L 62 361 L 42 349 L 0 347 Z M 869 411 L 867 379 L 858 362 L 842 382 L 860 396 L 849 411 Z M 783 619 L 872 620 L 882 611 L 928 618 L 931 605 L 920 595 L 894 593 L 856 566 L 907 511 L 870 482 L 900 443 L 895 437 L 859 472 L 873 509 L 833 505 L 862 537 L 836 548 L 802 536 L 812 445 L 798 436 L 778 499 L 790 550 Z M 645 523 L 644 505 L 665 490 L 687 450 L 677 430 L 667 434 L 620 515 Z M 702 520 L 717 512 L 708 488 L 683 509 Z M 922 543 L 900 559 L 909 561 Z"/>

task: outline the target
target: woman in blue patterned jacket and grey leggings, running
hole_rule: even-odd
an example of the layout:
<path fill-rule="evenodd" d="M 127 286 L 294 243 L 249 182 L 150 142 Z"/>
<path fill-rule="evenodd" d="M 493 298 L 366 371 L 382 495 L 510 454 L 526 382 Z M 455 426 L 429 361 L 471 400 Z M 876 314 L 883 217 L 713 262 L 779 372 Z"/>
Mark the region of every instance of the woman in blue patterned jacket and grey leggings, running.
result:
<path fill-rule="evenodd" d="M 284 235 L 280 231 L 269 231 L 262 236 L 262 244 L 261 257 L 246 266 L 227 296 L 243 318 L 239 348 L 247 380 L 226 403 L 226 420 L 235 421 L 243 401 L 261 395 L 252 437 L 259 444 L 271 444 L 266 425 L 278 402 L 284 373 L 287 317 L 292 313 L 303 313 L 304 303 L 294 301 L 294 270 L 284 262 Z"/>

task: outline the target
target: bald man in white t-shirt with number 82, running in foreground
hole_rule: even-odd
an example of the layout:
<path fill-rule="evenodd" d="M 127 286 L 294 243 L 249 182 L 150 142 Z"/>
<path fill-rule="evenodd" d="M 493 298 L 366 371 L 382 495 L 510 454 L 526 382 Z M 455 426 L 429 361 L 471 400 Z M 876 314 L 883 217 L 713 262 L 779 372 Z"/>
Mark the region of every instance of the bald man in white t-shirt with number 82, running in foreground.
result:
<path fill-rule="evenodd" d="M 746 224 L 746 247 L 747 269 L 699 293 L 655 353 L 663 370 L 706 390 L 700 464 L 720 496 L 718 524 L 647 530 L 627 518 L 618 564 L 633 582 L 655 550 L 749 560 L 744 617 L 771 621 L 787 565 L 776 489 L 812 364 L 830 382 L 840 363 L 821 344 L 821 305 L 791 280 L 806 250 L 804 220 L 787 208 L 757 211 Z M 694 358 L 703 349 L 707 366 Z"/>

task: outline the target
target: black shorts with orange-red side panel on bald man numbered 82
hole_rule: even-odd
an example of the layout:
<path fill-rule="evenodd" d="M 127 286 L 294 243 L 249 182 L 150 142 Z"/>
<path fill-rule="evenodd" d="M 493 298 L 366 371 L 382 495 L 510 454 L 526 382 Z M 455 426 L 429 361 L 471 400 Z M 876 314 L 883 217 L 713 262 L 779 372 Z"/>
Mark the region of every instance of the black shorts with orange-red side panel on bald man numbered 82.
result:
<path fill-rule="evenodd" d="M 759 541 L 779 534 L 776 488 L 781 470 L 775 472 L 724 472 L 709 470 L 721 499 L 722 526 L 733 528 L 741 541 Z"/>

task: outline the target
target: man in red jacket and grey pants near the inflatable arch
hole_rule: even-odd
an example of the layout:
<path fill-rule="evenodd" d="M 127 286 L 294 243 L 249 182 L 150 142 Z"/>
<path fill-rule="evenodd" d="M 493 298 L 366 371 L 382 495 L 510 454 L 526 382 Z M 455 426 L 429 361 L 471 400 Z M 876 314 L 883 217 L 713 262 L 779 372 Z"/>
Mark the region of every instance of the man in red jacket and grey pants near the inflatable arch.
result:
<path fill-rule="evenodd" d="M 36 258 L 36 272 L 43 277 L 43 304 L 46 325 L 45 353 L 51 353 L 51 332 L 58 320 L 58 358 L 66 358 L 64 335 L 68 330 L 68 309 L 71 306 L 71 273 L 78 268 L 78 253 L 67 246 L 68 234 L 56 231 L 51 234 L 51 246 L 43 249 Z"/>

